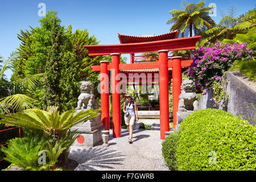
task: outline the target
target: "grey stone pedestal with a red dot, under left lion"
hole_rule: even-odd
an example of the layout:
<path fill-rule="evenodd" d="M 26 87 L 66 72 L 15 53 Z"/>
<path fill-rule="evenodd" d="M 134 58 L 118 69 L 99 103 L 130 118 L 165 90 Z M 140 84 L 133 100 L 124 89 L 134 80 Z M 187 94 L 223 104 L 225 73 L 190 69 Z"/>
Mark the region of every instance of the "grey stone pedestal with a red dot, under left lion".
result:
<path fill-rule="evenodd" d="M 81 109 L 76 110 L 79 113 Z M 103 143 L 101 131 L 105 129 L 101 122 L 101 115 L 95 118 L 88 119 L 86 122 L 78 123 L 71 128 L 72 131 L 77 130 L 80 132 L 79 138 L 72 144 L 73 146 L 88 146 L 94 147 Z"/>

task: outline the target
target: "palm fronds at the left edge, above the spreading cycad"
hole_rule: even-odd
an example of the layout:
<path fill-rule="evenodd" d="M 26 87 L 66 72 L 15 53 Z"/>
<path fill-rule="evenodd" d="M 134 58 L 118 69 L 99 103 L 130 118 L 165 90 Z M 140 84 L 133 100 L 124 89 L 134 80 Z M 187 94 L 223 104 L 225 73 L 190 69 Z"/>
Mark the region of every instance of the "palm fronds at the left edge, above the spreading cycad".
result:
<path fill-rule="evenodd" d="M 6 94 L 0 93 L 0 105 L 3 109 L 8 109 L 10 106 L 15 111 L 22 111 L 24 109 L 30 109 L 34 106 L 36 98 L 30 96 L 30 92 L 40 84 L 40 78 L 44 73 L 36 75 L 30 75 L 24 78 L 18 78 L 13 81 L 7 81 L 5 79 L 5 72 L 10 69 L 13 70 L 13 61 L 16 59 L 17 53 L 12 52 L 8 57 L 0 71 L 0 87 L 1 90 L 5 90 Z"/>

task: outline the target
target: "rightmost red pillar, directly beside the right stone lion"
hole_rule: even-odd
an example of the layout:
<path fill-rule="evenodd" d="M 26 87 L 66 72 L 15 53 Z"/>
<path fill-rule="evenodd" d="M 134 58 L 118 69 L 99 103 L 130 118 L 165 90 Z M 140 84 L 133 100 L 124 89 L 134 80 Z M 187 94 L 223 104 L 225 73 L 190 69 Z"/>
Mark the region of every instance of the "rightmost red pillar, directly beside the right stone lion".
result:
<path fill-rule="evenodd" d="M 181 56 L 172 57 L 172 103 L 174 127 L 177 126 L 177 111 L 179 107 L 179 96 L 181 92 Z"/>

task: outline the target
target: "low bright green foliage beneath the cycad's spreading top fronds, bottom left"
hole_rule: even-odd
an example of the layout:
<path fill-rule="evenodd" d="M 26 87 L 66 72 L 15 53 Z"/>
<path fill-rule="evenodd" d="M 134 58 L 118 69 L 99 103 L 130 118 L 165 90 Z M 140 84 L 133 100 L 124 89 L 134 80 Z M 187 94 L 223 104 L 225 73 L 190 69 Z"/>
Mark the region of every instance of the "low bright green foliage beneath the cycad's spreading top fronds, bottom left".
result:
<path fill-rule="evenodd" d="M 57 162 L 67 162 L 69 147 L 78 135 L 76 131 L 64 130 L 56 139 L 42 130 L 25 128 L 23 138 L 9 140 L 8 147 L 2 151 L 5 160 L 25 170 L 52 170 Z M 46 152 L 46 164 L 38 163 L 40 152 Z"/>

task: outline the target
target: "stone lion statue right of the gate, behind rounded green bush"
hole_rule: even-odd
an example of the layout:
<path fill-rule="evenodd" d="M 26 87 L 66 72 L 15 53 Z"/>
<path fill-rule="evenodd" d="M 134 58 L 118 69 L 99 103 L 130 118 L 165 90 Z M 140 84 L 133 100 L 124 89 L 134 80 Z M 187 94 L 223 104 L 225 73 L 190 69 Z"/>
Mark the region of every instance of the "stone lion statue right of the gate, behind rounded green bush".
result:
<path fill-rule="evenodd" d="M 195 92 L 195 85 L 192 80 L 184 80 L 182 82 L 179 98 L 179 111 L 199 110 L 198 96 Z"/>

